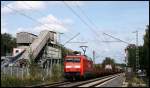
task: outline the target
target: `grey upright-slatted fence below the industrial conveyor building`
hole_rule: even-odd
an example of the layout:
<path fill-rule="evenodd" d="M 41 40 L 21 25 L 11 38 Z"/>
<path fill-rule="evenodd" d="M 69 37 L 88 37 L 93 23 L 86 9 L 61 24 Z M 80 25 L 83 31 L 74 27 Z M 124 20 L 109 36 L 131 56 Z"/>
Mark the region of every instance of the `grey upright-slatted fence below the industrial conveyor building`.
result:
<path fill-rule="evenodd" d="M 22 78 L 24 79 L 25 77 L 30 76 L 30 69 L 27 67 L 3 67 L 1 68 L 1 77 L 4 76 L 13 76 L 17 78 Z M 40 76 L 41 78 L 45 79 L 48 78 L 52 75 L 52 69 L 51 68 L 46 68 L 46 69 L 38 69 L 38 72 L 36 75 Z"/>

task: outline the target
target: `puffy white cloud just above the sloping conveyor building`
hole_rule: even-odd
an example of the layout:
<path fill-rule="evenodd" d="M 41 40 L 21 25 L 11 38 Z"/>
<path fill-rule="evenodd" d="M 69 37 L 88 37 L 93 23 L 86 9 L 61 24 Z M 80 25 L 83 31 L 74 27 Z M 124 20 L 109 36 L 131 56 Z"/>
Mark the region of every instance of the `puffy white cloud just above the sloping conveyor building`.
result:
<path fill-rule="evenodd" d="M 65 24 L 69 24 L 70 22 L 66 22 L 66 20 L 70 20 L 73 22 L 71 19 L 63 19 L 59 20 L 57 17 L 53 16 L 52 14 L 39 18 L 38 22 L 42 23 L 41 25 L 35 26 L 33 28 L 18 28 L 17 31 L 27 31 L 31 33 L 39 33 L 42 30 L 51 30 L 51 31 L 56 31 L 56 32 L 67 32 L 68 28 L 64 26 Z"/>

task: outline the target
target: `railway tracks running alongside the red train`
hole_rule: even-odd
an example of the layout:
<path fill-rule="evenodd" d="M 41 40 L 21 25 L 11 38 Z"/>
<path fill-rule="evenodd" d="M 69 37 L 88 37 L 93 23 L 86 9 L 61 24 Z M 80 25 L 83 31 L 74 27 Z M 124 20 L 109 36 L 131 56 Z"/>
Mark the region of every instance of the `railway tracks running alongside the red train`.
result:
<path fill-rule="evenodd" d="M 100 87 L 103 83 L 115 79 L 119 77 L 121 74 L 122 73 L 104 76 L 96 79 L 90 79 L 86 81 L 78 81 L 78 82 L 64 81 L 64 82 L 57 82 L 53 84 L 42 84 L 42 85 L 30 86 L 30 87 Z"/>

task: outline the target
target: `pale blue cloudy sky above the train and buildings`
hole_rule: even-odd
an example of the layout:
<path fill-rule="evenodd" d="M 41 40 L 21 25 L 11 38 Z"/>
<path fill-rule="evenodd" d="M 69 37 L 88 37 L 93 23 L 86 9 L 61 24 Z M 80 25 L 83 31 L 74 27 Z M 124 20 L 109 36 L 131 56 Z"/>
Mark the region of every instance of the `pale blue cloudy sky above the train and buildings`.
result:
<path fill-rule="evenodd" d="M 68 1 L 69 5 L 81 19 L 76 16 L 62 1 L 1 1 L 1 33 L 16 36 L 17 32 L 25 31 L 39 34 L 42 30 L 54 30 L 64 33 L 61 43 L 80 33 L 72 42 L 65 46 L 81 51 L 79 46 L 87 45 L 86 54 L 92 57 L 96 52 L 96 63 L 106 57 L 116 62 L 124 62 L 123 42 L 116 41 L 103 33 L 135 43 L 135 30 L 139 31 L 139 45 L 143 44 L 145 26 L 149 24 L 148 1 Z M 89 22 L 88 18 L 92 21 Z M 90 27 L 92 28 L 90 28 Z"/>

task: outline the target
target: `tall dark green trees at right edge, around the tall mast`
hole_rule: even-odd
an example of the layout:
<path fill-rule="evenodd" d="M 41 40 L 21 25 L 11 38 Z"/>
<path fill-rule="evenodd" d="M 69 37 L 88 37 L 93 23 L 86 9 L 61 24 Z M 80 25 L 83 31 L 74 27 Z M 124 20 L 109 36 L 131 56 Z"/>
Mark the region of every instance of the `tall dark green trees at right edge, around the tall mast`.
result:
<path fill-rule="evenodd" d="M 146 69 L 149 74 L 149 25 L 146 26 L 146 33 L 144 35 L 143 46 L 138 46 L 139 49 L 139 65 L 140 69 Z M 132 67 L 135 71 L 136 68 L 136 46 L 130 44 L 127 47 L 128 50 L 128 66 Z"/>

